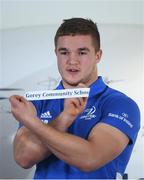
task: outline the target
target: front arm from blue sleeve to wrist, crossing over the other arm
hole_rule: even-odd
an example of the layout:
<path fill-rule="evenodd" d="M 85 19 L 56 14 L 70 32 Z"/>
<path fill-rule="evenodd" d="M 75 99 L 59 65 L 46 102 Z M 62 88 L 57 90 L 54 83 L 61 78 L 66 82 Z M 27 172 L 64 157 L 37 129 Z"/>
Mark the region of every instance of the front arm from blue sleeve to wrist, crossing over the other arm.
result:
<path fill-rule="evenodd" d="M 129 141 L 121 131 L 104 123 L 94 127 L 88 140 L 43 126 L 39 121 L 30 126 L 32 131 L 33 126 L 39 126 L 35 133 L 59 159 L 82 171 L 92 171 L 113 160 Z"/>

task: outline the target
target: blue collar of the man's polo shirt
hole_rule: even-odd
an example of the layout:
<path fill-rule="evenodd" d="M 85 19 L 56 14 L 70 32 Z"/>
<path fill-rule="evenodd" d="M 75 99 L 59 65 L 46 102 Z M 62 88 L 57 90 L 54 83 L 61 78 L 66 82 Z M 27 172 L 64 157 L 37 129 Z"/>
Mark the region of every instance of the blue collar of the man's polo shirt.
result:
<path fill-rule="evenodd" d="M 98 79 L 93 82 L 89 88 L 90 88 L 90 93 L 89 93 L 89 97 L 93 97 L 97 94 L 102 93 L 105 88 L 106 88 L 106 84 L 104 83 L 103 79 L 101 76 L 98 76 Z M 63 85 L 62 85 L 62 81 L 60 81 L 59 85 L 57 86 L 56 89 L 64 89 Z"/>

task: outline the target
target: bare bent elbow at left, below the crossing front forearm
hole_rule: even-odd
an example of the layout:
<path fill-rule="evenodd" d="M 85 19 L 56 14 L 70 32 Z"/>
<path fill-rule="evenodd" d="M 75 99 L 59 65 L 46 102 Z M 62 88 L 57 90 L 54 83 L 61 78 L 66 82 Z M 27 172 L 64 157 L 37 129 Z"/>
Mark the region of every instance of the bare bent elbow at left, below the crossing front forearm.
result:
<path fill-rule="evenodd" d="M 24 126 L 16 133 L 13 152 L 15 161 L 23 168 L 30 168 L 51 154 L 39 138 Z"/>

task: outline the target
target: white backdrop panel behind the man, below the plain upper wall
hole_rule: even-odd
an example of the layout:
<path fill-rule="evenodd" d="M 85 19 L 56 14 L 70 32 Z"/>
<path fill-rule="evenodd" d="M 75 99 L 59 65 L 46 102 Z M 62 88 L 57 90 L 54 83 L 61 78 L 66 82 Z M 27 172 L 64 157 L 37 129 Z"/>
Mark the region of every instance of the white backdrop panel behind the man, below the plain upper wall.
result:
<path fill-rule="evenodd" d="M 142 26 L 99 24 L 103 57 L 98 65 L 99 74 L 107 77 L 111 87 L 131 96 L 143 106 L 143 52 Z M 58 25 L 34 26 L 2 30 L 1 87 L 25 90 L 53 88 L 58 81 L 53 38 Z M 50 81 L 49 81 L 50 80 Z M 48 83 L 49 82 L 49 83 Z M 19 92 L 0 92 L 10 96 Z M 31 178 L 34 169 L 23 170 L 12 157 L 12 140 L 17 122 L 9 111 L 9 103 L 0 103 L 0 178 Z M 143 112 L 142 112 L 143 113 Z M 142 114 L 142 124 L 143 114 Z M 127 168 L 129 178 L 144 177 L 144 138 L 139 133 L 132 158 Z M 11 163 L 9 163 L 11 162 Z M 9 171 L 7 171 L 9 169 Z"/>

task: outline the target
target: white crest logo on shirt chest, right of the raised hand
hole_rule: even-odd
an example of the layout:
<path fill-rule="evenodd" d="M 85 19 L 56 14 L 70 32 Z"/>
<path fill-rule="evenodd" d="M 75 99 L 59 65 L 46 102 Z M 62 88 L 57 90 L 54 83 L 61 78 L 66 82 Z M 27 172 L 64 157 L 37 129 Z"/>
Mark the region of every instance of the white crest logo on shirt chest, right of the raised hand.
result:
<path fill-rule="evenodd" d="M 94 114 L 96 112 L 96 107 L 92 106 L 91 108 L 86 109 L 80 119 L 84 120 L 91 120 L 93 118 L 96 118 L 96 115 Z"/>

